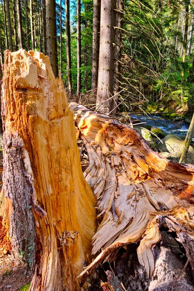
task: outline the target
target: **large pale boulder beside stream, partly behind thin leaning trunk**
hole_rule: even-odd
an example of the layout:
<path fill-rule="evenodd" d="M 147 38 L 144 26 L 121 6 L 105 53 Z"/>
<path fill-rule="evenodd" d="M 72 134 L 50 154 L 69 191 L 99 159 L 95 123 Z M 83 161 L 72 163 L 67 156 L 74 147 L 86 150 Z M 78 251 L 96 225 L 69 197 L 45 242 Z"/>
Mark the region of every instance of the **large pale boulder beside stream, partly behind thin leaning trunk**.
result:
<path fill-rule="evenodd" d="M 184 141 L 177 135 L 168 134 L 162 139 L 162 142 L 163 144 L 158 143 L 157 148 L 160 152 L 165 152 L 165 158 L 179 161 Z M 166 153 L 169 153 L 170 156 L 167 157 Z M 186 163 L 194 164 L 194 148 L 192 146 L 189 147 Z"/>

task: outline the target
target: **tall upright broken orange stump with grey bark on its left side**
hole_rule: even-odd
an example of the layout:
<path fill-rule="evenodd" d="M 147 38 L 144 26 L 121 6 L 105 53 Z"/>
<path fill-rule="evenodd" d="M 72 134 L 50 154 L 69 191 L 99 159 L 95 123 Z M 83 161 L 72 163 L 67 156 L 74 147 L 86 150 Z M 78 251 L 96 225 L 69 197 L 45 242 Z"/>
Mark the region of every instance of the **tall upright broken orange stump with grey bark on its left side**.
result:
<path fill-rule="evenodd" d="M 5 52 L 3 191 L 12 250 L 33 263 L 32 291 L 80 290 L 95 197 L 86 183 L 61 79 L 39 52 Z"/>

